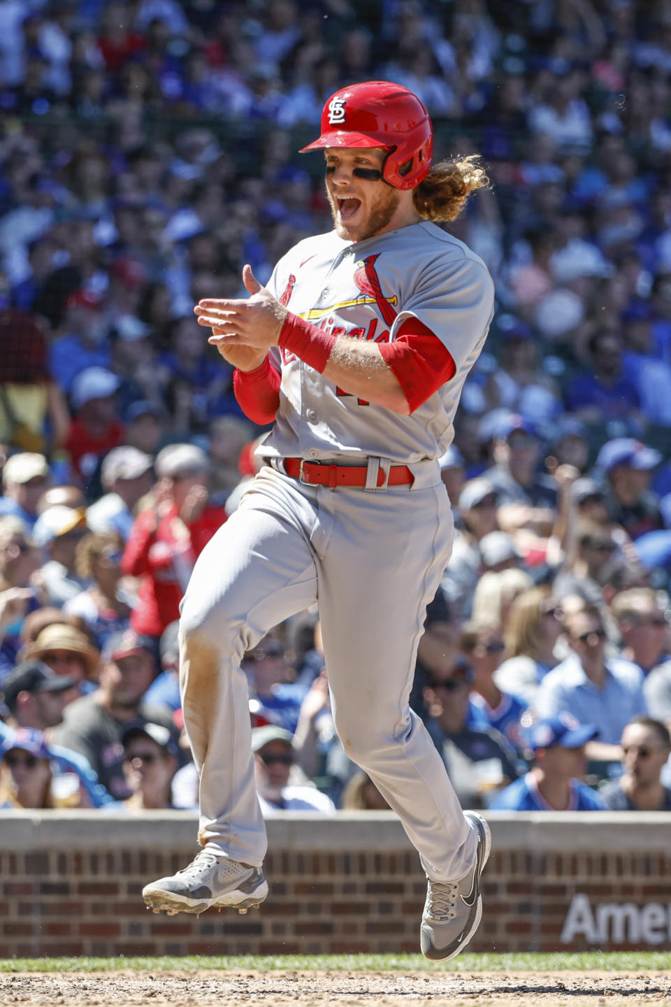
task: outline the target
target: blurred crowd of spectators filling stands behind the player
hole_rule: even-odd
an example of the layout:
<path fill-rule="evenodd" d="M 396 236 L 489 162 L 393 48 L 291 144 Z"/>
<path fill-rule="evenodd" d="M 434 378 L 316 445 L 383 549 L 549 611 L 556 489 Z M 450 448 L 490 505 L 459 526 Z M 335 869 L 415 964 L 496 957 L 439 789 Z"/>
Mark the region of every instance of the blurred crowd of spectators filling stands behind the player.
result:
<path fill-rule="evenodd" d="M 670 70 L 668 0 L 1 0 L 0 807 L 195 807 L 179 599 L 263 430 L 193 305 L 330 229 L 368 79 L 491 180 L 413 709 L 470 807 L 671 807 Z M 384 807 L 318 611 L 243 669 L 265 811 Z"/>

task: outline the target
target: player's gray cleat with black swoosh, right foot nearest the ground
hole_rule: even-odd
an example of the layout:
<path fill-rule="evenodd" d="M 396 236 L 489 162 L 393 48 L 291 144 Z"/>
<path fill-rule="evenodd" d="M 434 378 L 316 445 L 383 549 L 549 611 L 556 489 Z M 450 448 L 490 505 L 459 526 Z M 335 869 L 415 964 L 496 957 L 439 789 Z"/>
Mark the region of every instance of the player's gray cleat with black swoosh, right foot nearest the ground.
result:
<path fill-rule="evenodd" d="M 478 834 L 475 866 L 461 881 L 429 881 L 422 914 L 422 954 L 432 962 L 447 962 L 464 950 L 482 918 L 480 877 L 489 858 L 492 838 L 484 818 L 464 812 Z"/>

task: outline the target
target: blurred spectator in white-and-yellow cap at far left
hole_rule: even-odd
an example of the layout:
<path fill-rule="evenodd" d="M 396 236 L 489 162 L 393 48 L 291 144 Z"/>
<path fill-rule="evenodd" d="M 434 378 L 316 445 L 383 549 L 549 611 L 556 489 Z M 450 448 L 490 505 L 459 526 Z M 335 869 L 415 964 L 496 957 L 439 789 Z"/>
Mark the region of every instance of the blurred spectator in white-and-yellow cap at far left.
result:
<path fill-rule="evenodd" d="M 82 591 L 89 581 L 76 572 L 77 543 L 87 534 L 87 519 L 78 508 L 57 503 L 35 522 L 33 540 L 46 562 L 40 569 L 46 603 L 56 608 Z"/>

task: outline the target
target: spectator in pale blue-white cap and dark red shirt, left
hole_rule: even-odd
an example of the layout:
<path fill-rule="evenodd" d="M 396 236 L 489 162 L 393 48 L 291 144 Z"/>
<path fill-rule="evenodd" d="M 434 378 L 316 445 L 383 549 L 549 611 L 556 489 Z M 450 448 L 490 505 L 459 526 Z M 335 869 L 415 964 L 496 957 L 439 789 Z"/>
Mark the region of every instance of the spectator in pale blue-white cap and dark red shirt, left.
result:
<path fill-rule="evenodd" d="M 107 368 L 87 368 L 72 382 L 75 413 L 65 447 L 76 474 L 86 484 L 100 459 L 124 440 L 116 393 L 119 378 Z"/>

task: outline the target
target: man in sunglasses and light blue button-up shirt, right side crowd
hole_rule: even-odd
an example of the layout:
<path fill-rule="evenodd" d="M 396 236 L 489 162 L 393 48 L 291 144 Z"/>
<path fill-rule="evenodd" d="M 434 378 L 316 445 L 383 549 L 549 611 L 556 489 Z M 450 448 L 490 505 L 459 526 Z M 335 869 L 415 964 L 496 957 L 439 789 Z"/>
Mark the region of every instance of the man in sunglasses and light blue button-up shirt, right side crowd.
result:
<path fill-rule="evenodd" d="M 607 636 L 598 608 L 586 605 L 565 612 L 564 630 L 572 654 L 540 683 L 536 713 L 545 718 L 566 711 L 579 724 L 593 724 L 599 740 L 589 742 L 589 758 L 619 760 L 625 726 L 648 712 L 643 673 L 629 661 L 606 657 Z"/>

